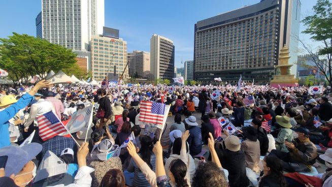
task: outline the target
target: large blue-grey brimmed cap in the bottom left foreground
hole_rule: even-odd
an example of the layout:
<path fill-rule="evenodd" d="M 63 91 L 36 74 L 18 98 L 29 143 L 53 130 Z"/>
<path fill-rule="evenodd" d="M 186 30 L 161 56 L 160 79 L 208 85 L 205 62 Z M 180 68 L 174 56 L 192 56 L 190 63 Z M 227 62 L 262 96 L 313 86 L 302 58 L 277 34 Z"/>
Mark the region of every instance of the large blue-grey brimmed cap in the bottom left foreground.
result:
<path fill-rule="evenodd" d="M 39 143 L 29 143 L 22 147 L 6 146 L 0 148 L 0 156 L 8 156 L 5 176 L 10 176 L 11 174 L 17 175 L 42 149 L 43 146 Z"/>

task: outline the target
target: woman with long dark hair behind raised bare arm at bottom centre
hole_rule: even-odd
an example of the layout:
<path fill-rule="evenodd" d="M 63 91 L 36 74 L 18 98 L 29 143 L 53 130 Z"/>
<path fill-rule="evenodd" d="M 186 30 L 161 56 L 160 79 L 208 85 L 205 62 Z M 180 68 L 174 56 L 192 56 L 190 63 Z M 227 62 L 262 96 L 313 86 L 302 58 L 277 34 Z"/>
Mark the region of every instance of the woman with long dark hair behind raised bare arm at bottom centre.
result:
<path fill-rule="evenodd" d="M 141 136 L 140 138 L 141 149 L 139 150 L 138 154 L 140 158 L 149 166 L 149 168 L 155 171 L 155 155 L 152 152 L 153 140 L 150 136 Z M 127 171 L 134 172 L 134 181 L 132 182 L 132 186 L 150 186 L 150 183 L 146 180 L 145 175 L 142 173 L 134 160 L 130 160 Z"/>

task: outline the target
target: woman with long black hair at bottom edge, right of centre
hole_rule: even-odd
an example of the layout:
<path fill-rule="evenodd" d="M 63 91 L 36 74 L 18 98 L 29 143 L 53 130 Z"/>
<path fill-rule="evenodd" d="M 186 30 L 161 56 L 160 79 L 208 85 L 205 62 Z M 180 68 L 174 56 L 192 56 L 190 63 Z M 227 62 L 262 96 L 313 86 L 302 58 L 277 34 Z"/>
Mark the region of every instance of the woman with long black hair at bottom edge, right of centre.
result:
<path fill-rule="evenodd" d="M 274 155 L 268 155 L 262 161 L 263 163 L 263 175 L 258 181 L 259 187 L 286 187 L 287 182 L 282 173 L 282 164 L 280 160 Z"/>

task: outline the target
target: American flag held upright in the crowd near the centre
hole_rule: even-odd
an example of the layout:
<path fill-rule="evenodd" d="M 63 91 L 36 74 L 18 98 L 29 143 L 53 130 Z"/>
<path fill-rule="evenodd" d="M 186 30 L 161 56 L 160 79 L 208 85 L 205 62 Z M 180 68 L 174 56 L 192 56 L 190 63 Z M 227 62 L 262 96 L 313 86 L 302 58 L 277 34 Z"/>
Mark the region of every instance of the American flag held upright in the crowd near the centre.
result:
<path fill-rule="evenodd" d="M 139 120 L 153 124 L 163 124 L 165 104 L 142 101 Z"/>

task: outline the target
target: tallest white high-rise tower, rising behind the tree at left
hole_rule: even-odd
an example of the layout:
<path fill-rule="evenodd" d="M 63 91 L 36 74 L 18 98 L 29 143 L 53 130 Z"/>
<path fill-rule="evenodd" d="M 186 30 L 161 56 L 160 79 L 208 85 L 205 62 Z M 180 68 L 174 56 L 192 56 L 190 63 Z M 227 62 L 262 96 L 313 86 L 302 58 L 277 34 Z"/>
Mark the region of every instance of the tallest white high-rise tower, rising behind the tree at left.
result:
<path fill-rule="evenodd" d="M 104 0 L 42 0 L 36 17 L 38 37 L 79 51 L 89 51 L 91 37 L 102 34 L 104 25 Z"/>

